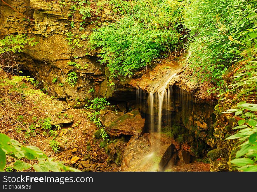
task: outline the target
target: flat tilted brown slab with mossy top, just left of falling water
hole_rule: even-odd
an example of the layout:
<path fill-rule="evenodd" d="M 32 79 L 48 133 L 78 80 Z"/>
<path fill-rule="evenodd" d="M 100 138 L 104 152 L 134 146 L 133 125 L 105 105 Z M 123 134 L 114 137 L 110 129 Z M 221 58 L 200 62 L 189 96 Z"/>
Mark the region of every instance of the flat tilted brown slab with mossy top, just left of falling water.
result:
<path fill-rule="evenodd" d="M 105 124 L 105 131 L 110 136 L 123 135 L 143 135 L 145 119 L 143 119 L 138 110 L 125 113 L 121 117 Z"/>

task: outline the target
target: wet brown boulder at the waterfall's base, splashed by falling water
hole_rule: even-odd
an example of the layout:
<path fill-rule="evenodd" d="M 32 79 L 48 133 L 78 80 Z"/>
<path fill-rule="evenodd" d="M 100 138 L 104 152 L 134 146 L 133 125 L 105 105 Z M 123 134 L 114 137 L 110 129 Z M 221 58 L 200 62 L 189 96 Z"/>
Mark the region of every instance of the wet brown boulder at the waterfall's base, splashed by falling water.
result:
<path fill-rule="evenodd" d="M 122 171 L 162 171 L 175 146 L 171 138 L 161 133 L 144 133 L 127 143 L 121 162 Z"/>

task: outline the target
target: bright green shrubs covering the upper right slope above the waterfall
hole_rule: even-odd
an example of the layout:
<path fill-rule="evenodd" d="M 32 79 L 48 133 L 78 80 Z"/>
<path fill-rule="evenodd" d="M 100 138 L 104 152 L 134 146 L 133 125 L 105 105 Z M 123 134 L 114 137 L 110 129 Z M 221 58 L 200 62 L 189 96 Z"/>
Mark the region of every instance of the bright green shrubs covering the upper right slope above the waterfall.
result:
<path fill-rule="evenodd" d="M 200 82 L 211 80 L 222 86 L 229 66 L 256 56 L 257 1 L 191 0 L 185 4 L 190 67 Z"/>

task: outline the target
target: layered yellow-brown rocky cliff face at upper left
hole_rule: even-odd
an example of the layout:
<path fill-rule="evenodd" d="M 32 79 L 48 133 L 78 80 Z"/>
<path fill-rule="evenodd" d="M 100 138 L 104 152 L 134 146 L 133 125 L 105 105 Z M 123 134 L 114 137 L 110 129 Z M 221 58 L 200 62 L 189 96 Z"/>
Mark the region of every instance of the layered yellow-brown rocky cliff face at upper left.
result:
<path fill-rule="evenodd" d="M 23 70 L 27 70 L 41 82 L 43 90 L 55 98 L 66 99 L 71 106 L 82 106 L 85 98 L 106 94 L 106 87 L 100 89 L 105 80 L 104 67 L 96 62 L 96 53 L 86 49 L 86 37 L 95 27 L 95 24 L 91 24 L 95 19 L 87 18 L 82 32 L 79 30 L 80 15 L 74 15 L 76 27 L 71 27 L 69 2 L 63 4 L 58 1 L 43 0 L 5 2 L 13 8 L 0 2 L 0 36 L 27 34 L 39 42 L 37 46 L 25 47 L 16 61 L 22 64 Z M 105 12 L 98 16 L 99 21 L 105 21 Z M 76 62 L 81 68 L 68 65 L 68 62 Z M 78 77 L 74 87 L 67 83 L 68 74 L 72 71 Z M 57 80 L 52 82 L 56 77 Z M 88 92 L 90 89 L 94 92 Z"/>

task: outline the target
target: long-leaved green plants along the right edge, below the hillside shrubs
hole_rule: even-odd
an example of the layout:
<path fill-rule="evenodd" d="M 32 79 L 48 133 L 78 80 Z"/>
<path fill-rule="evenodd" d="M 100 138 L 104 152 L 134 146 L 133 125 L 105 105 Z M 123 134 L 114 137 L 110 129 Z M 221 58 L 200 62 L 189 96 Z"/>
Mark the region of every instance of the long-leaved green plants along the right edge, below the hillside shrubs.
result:
<path fill-rule="evenodd" d="M 222 113 L 232 113 L 237 117 L 237 131 L 226 140 L 238 140 L 235 145 L 236 154 L 230 161 L 232 169 L 240 171 L 257 171 L 257 61 L 244 64 L 232 77 L 232 83 L 228 86 L 226 94 L 236 95 L 237 105 L 232 109 L 226 109 Z M 226 98 L 221 94 L 220 99 Z M 253 103 L 254 102 L 254 103 Z"/>

